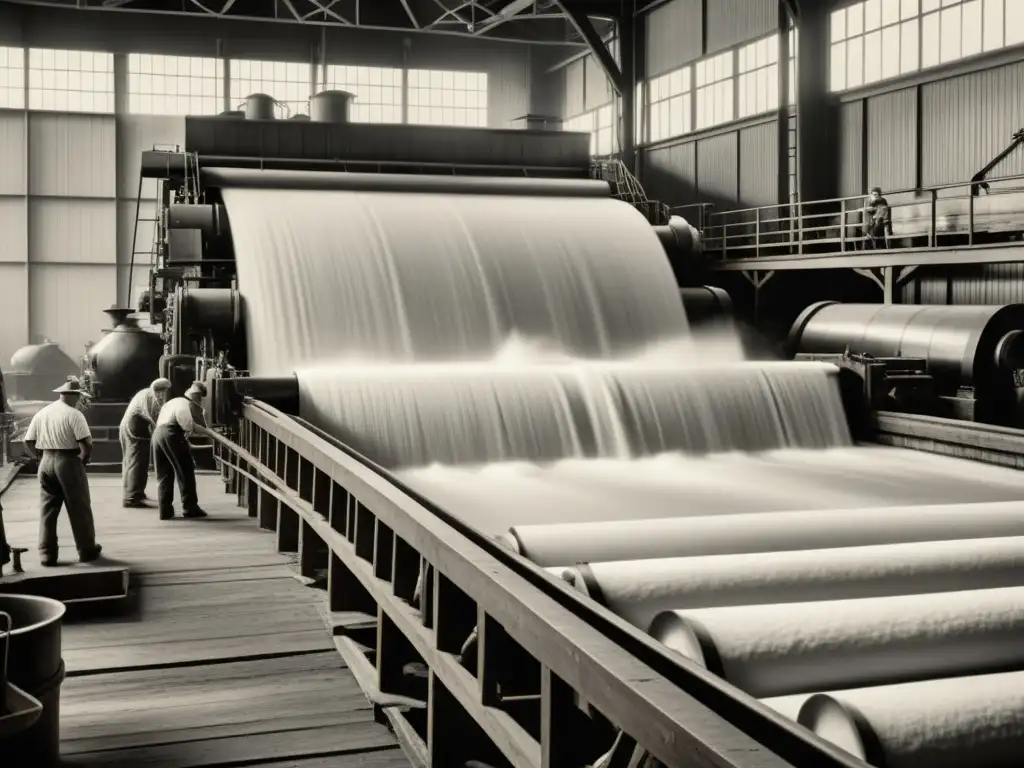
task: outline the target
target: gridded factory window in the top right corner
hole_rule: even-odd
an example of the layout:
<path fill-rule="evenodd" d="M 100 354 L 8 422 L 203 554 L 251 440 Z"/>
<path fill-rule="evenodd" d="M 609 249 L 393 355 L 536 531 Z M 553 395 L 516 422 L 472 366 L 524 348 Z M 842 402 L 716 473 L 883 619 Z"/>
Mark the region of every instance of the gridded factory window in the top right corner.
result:
<path fill-rule="evenodd" d="M 921 66 L 1024 42 L 1021 0 L 922 0 Z"/>

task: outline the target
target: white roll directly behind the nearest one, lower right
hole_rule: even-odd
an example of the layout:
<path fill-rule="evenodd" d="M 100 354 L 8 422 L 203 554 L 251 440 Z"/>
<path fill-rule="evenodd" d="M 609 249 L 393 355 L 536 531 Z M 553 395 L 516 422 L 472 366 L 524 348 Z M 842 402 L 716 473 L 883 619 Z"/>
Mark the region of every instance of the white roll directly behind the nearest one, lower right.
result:
<path fill-rule="evenodd" d="M 1022 633 L 1021 587 L 672 610 L 650 625 L 758 698 L 1018 669 Z"/>

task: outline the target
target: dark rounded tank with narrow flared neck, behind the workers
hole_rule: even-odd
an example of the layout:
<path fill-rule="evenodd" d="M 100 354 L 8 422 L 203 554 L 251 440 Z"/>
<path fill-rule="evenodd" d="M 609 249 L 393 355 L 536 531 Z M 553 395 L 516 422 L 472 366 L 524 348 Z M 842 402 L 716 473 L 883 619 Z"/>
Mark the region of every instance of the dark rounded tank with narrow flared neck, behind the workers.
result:
<path fill-rule="evenodd" d="M 129 400 L 160 375 L 164 341 L 139 328 L 138 321 L 129 316 L 130 308 L 111 307 L 103 311 L 114 327 L 86 355 L 92 371 L 90 388 L 97 399 Z"/>

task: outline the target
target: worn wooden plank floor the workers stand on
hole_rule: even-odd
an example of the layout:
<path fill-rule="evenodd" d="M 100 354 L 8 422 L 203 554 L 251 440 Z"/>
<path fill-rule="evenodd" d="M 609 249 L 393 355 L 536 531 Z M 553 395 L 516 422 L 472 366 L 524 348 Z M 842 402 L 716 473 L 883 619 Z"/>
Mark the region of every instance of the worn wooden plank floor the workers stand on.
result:
<path fill-rule="evenodd" d="M 218 476 L 200 477 L 206 520 L 122 509 L 116 475 L 90 486 L 103 560 L 127 564 L 133 587 L 126 611 L 65 625 L 66 765 L 408 768 L 325 629 L 323 593 L 294 578 Z M 3 496 L 33 571 L 38 493 L 18 478 Z M 67 515 L 59 537 L 73 562 Z"/>

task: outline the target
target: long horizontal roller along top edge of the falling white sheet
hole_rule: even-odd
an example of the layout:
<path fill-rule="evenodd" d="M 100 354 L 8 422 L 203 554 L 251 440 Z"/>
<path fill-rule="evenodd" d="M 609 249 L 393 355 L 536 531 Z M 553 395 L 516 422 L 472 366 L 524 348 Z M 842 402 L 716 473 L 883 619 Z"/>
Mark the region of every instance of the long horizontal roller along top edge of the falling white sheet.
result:
<path fill-rule="evenodd" d="M 441 195 L 512 195 L 528 197 L 606 198 L 605 181 L 556 178 L 484 178 L 478 176 L 418 176 L 397 173 L 204 168 L 203 183 L 212 187 L 261 189 L 338 189 L 374 193 L 435 193 Z"/>

